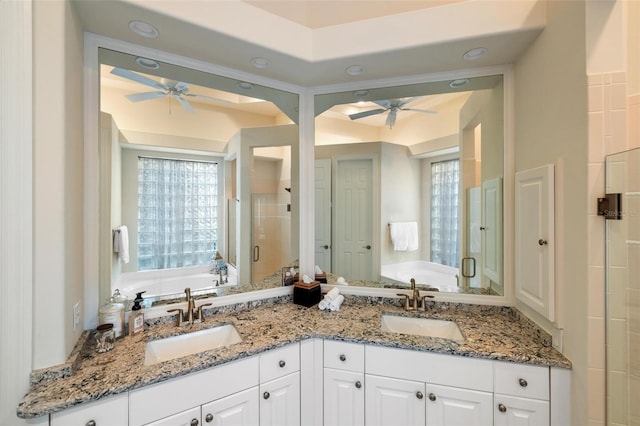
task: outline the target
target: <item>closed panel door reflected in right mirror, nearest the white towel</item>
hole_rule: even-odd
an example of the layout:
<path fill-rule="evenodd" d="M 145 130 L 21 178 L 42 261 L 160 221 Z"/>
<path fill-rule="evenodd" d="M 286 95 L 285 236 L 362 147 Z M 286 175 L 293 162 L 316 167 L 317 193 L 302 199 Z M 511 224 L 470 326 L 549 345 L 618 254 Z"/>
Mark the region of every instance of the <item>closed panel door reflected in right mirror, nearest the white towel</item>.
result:
<path fill-rule="evenodd" d="M 335 182 L 333 272 L 373 279 L 373 160 L 338 160 Z"/>

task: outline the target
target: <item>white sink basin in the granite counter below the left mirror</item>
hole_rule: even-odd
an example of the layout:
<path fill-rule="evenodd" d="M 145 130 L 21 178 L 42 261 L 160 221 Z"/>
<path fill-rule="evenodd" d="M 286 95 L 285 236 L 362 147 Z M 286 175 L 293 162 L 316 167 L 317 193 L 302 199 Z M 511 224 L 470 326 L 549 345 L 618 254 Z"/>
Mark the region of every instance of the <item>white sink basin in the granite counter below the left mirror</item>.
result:
<path fill-rule="evenodd" d="M 221 348 L 241 341 L 242 337 L 232 324 L 154 340 L 147 343 L 144 365 Z"/>

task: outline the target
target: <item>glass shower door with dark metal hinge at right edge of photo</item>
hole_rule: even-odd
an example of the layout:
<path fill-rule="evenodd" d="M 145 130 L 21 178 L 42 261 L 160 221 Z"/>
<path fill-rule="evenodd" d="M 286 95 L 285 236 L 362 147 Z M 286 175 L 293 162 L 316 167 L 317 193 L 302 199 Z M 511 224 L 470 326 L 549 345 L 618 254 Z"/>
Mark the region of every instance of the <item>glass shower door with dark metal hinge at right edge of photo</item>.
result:
<path fill-rule="evenodd" d="M 640 149 L 606 159 L 607 424 L 640 425 Z"/>

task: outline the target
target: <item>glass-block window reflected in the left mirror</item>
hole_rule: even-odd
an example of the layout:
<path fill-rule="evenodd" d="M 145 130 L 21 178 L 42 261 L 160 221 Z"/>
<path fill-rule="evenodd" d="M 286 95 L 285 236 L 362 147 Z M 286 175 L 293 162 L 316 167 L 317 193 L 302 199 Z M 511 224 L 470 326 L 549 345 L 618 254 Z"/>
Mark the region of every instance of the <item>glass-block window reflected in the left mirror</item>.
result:
<path fill-rule="evenodd" d="M 218 245 L 218 165 L 138 157 L 138 270 L 208 264 Z"/>

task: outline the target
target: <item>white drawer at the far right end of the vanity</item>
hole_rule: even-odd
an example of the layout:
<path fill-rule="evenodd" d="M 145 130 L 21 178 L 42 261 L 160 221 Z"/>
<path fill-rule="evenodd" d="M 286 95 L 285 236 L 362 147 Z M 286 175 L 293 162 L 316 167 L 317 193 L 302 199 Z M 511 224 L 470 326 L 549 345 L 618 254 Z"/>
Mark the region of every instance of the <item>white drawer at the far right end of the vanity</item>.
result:
<path fill-rule="evenodd" d="M 496 361 L 495 393 L 549 400 L 549 367 Z"/>

